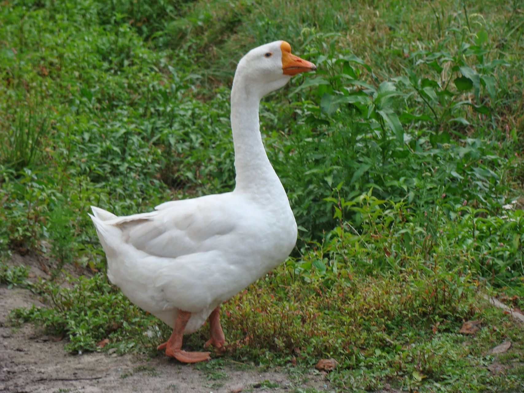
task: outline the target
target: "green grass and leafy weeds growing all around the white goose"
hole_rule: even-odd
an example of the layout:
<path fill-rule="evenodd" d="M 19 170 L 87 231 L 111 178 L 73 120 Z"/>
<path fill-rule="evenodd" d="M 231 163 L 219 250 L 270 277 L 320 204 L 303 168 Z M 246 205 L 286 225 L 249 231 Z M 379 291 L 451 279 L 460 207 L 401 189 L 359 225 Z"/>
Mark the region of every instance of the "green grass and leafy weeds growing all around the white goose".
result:
<path fill-rule="evenodd" d="M 0 248 L 53 264 L 36 285 L 2 265 L 2 282 L 49 306 L 12 319 L 67 335 L 69 351 L 108 338 L 120 353 L 158 354 L 169 329 L 108 285 L 86 213 L 231 190 L 235 64 L 286 39 L 319 69 L 264 99 L 260 122 L 300 236 L 285 264 L 225 304 L 226 357 L 287 367 L 296 357 L 298 369 L 335 357 L 341 391 L 522 390 L 522 334 L 478 293 L 524 307 L 523 7 L 3 4 Z M 99 273 L 65 278 L 66 264 Z M 459 334 L 473 319 L 482 330 Z M 206 334 L 186 345 L 200 349 Z M 507 369 L 492 375 L 485 354 L 508 337 Z"/>

